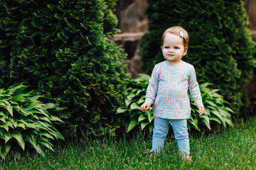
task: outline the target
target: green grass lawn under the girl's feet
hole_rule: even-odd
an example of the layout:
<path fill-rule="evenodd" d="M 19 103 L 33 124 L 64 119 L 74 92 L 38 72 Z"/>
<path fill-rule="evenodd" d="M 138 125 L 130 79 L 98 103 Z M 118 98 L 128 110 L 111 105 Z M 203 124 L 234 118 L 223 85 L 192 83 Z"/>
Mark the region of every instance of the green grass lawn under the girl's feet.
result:
<path fill-rule="evenodd" d="M 156 156 L 144 154 L 151 149 L 151 138 L 84 140 L 48 151 L 46 157 L 7 157 L 0 160 L 0 169 L 256 169 L 256 118 L 234 129 L 190 139 L 192 164 L 179 159 L 176 140 L 170 136 Z"/>

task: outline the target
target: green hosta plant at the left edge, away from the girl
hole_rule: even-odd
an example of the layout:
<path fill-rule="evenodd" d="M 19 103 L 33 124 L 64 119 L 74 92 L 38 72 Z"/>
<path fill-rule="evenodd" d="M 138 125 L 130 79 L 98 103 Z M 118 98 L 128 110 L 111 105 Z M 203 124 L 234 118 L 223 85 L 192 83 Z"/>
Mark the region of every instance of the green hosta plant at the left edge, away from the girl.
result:
<path fill-rule="evenodd" d="M 42 96 L 24 92 L 27 87 L 17 84 L 0 89 L 0 156 L 3 159 L 9 152 L 20 157 L 27 147 L 43 156 L 44 149 L 53 150 L 50 140 L 64 140 L 53 126 L 53 122 L 63 121 L 47 111 L 55 105 L 38 101 Z"/>

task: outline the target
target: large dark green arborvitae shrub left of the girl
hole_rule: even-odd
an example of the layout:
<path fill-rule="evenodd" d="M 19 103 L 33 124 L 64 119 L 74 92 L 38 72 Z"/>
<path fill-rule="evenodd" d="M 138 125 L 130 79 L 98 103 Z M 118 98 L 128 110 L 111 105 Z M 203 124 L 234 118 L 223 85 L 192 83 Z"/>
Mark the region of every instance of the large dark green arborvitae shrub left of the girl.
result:
<path fill-rule="evenodd" d="M 62 130 L 100 135 L 119 126 L 115 111 L 129 77 L 115 0 L 1 1 L 0 86 L 26 81 L 58 103 Z M 2 15 L 3 14 L 3 15 Z"/>

